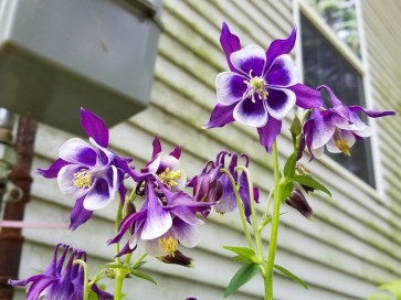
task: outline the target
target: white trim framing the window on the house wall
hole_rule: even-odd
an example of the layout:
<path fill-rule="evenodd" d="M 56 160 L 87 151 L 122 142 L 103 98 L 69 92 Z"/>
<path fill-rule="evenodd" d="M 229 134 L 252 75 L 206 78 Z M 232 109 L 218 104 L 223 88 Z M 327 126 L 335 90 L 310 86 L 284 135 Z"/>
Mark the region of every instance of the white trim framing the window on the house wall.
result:
<path fill-rule="evenodd" d="M 357 22 L 358 22 L 358 30 L 359 30 L 359 40 L 360 40 L 360 52 L 361 58 L 359 58 L 350 49 L 349 46 L 341 41 L 335 32 L 329 28 L 328 24 L 319 17 L 319 14 L 312 8 L 306 1 L 304 0 L 293 0 L 293 20 L 296 26 L 300 28 L 300 13 L 303 13 L 309 22 L 329 41 L 329 43 L 336 49 L 336 51 L 362 76 L 363 82 L 363 94 L 366 106 L 368 108 L 373 108 L 372 105 L 372 93 L 371 93 L 371 85 L 370 85 L 370 74 L 369 74 L 369 64 L 368 64 L 368 53 L 366 47 L 366 40 L 365 40 L 365 30 L 362 25 L 362 13 L 360 1 L 356 1 L 356 13 L 357 13 Z M 302 39 L 299 39 L 300 34 L 298 34 L 298 39 L 295 45 L 296 52 L 296 64 L 299 66 L 299 75 L 302 82 L 303 78 L 303 53 L 302 53 Z M 344 168 L 338 164 L 335 160 L 325 157 L 325 164 L 337 173 L 341 173 L 347 180 L 352 181 L 358 189 L 361 189 L 366 193 L 370 194 L 373 197 L 378 197 L 384 194 L 383 189 L 383 176 L 382 176 L 382 165 L 381 165 L 381 153 L 379 149 L 379 138 L 377 126 L 374 121 L 369 122 L 369 126 L 372 129 L 372 136 L 369 138 L 371 154 L 372 154 L 372 165 L 374 171 L 374 184 L 376 188 L 372 188 L 363 180 L 359 179 L 357 175 L 353 175 L 351 172 L 345 172 Z"/>

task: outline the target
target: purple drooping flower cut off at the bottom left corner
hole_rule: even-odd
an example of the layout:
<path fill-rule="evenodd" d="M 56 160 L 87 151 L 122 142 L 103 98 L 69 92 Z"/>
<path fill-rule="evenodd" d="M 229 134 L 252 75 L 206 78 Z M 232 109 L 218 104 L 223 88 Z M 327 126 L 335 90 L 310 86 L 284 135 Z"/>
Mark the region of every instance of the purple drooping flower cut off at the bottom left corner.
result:
<path fill-rule="evenodd" d="M 59 251 L 62 254 L 59 256 Z M 86 261 L 86 253 L 73 249 L 68 245 L 59 244 L 53 254 L 53 259 L 43 274 L 31 276 L 25 280 L 9 280 L 13 287 L 27 289 L 27 300 L 75 300 L 83 299 L 84 270 L 75 259 Z M 92 290 L 98 299 L 112 300 L 113 296 L 102 291 L 94 285 Z"/>

